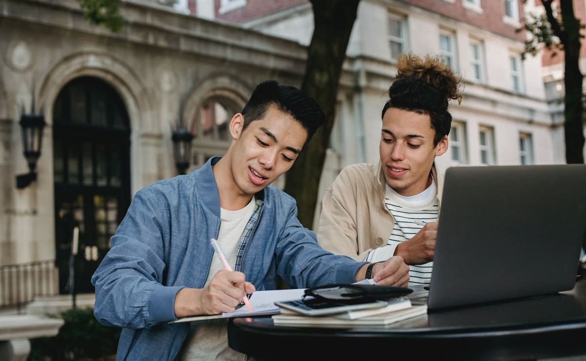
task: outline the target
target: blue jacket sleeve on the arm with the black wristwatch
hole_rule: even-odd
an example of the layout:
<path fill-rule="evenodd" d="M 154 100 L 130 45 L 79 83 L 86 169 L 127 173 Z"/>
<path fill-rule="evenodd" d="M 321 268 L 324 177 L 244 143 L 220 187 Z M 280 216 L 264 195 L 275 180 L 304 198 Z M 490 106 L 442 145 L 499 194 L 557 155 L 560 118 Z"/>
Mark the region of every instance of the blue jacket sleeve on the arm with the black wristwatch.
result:
<path fill-rule="evenodd" d="M 356 272 L 365 262 L 333 255 L 318 245 L 315 233 L 297 219 L 297 205 L 292 201 L 287 220 L 277 240 L 277 273 L 294 288 L 323 284 L 353 283 Z"/>

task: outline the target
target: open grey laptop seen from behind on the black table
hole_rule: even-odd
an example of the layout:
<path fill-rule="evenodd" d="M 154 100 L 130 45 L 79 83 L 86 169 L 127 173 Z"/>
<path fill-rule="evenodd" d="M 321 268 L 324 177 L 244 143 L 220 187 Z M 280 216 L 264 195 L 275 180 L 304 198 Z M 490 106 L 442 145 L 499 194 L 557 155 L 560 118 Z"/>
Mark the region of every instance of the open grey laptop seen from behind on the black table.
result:
<path fill-rule="evenodd" d="M 451 167 L 428 309 L 571 290 L 585 236 L 586 164 Z"/>

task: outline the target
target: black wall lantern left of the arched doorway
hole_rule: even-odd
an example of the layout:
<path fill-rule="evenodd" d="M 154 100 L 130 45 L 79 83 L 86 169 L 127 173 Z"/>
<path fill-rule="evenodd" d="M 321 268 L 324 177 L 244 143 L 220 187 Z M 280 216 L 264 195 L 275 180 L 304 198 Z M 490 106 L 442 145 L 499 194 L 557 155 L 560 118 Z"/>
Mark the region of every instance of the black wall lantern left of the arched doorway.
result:
<path fill-rule="evenodd" d="M 40 157 L 41 142 L 43 140 L 43 128 L 45 127 L 45 116 L 41 114 L 25 114 L 22 108 L 21 121 L 23 154 L 29 164 L 29 173 L 16 176 L 16 188 L 22 189 L 36 180 L 36 162 Z"/>

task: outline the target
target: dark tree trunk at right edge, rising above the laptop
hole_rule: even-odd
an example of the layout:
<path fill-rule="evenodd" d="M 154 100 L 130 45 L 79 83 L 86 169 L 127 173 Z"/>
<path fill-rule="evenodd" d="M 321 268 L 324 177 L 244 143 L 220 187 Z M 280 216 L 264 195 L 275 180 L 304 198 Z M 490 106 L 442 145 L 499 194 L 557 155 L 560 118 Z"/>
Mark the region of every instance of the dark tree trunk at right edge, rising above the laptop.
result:
<path fill-rule="evenodd" d="M 564 42 L 564 135 L 565 161 L 584 163 L 584 129 L 582 121 L 582 78 L 580 61 L 580 20 L 574 16 L 573 0 L 561 0 Z"/>

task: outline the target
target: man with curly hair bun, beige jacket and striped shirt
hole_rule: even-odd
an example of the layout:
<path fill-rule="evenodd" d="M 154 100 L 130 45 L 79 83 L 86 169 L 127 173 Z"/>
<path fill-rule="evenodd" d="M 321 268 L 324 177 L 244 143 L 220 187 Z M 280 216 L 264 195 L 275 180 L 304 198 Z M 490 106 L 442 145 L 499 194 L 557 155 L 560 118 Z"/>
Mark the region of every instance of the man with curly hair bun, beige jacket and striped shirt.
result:
<path fill-rule="evenodd" d="M 434 159 L 448 149 L 448 100 L 461 99 L 459 82 L 440 57 L 398 60 L 382 112 L 380 163 L 347 166 L 326 191 L 324 249 L 368 262 L 398 255 L 410 265 L 410 286 L 430 282 L 442 189 Z"/>

